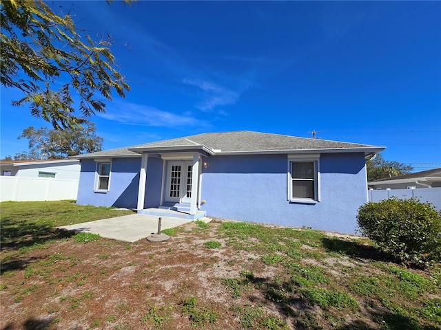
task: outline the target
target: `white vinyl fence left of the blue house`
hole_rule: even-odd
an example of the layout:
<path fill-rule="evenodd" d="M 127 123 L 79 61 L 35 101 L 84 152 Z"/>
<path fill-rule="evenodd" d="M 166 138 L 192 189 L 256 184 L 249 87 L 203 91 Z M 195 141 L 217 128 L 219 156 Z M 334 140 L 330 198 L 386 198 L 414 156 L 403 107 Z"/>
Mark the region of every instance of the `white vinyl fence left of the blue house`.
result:
<path fill-rule="evenodd" d="M 76 199 L 79 180 L 0 176 L 0 201 Z"/>

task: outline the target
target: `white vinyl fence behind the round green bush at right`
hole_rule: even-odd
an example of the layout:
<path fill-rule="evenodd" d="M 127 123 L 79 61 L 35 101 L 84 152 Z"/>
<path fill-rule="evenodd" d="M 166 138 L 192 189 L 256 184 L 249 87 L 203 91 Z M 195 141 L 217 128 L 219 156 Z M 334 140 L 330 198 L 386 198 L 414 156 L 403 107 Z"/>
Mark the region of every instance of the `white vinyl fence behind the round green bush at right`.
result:
<path fill-rule="evenodd" d="M 432 203 L 437 210 L 441 210 L 441 187 L 368 190 L 369 201 L 382 201 L 393 196 L 399 199 L 418 198 L 422 202 Z"/>

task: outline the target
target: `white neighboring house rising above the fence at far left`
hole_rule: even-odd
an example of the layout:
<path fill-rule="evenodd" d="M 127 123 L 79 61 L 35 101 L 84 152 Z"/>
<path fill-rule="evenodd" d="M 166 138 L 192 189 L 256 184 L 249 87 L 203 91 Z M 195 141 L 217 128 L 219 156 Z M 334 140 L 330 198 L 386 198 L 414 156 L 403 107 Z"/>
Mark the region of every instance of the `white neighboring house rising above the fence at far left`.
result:
<path fill-rule="evenodd" d="M 0 175 L 10 177 L 52 177 L 79 180 L 78 159 L 1 160 Z"/>

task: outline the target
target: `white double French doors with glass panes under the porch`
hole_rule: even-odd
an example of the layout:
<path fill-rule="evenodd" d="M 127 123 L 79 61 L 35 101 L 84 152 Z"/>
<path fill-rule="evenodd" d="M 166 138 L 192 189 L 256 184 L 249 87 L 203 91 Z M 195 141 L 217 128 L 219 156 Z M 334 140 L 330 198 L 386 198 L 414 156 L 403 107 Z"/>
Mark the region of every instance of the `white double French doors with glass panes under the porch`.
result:
<path fill-rule="evenodd" d="M 165 201 L 190 203 L 192 198 L 192 168 L 192 162 L 168 162 Z"/>

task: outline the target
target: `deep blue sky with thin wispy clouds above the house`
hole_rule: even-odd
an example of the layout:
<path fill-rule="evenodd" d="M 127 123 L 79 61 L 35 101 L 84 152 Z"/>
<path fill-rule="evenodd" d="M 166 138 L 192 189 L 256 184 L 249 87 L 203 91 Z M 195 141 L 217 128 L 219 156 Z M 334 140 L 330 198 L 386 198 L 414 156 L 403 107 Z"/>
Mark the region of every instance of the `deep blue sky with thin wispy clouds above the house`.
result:
<path fill-rule="evenodd" d="M 92 117 L 104 149 L 249 130 L 387 146 L 441 167 L 440 1 L 54 2 L 112 53 L 132 91 Z M 1 87 L 1 157 L 47 126 Z"/>

